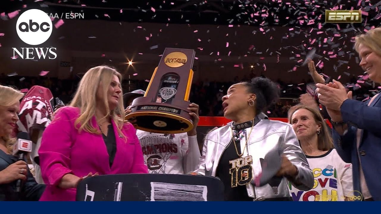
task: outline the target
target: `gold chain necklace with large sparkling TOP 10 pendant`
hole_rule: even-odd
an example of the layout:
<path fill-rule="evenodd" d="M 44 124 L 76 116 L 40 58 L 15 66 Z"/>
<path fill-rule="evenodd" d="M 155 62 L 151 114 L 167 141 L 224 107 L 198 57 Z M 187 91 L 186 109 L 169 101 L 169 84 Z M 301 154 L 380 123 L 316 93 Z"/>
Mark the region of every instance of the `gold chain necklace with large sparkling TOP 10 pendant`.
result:
<path fill-rule="evenodd" d="M 240 154 L 237 149 L 237 145 L 235 144 L 234 140 L 234 133 L 232 131 L 232 137 L 233 137 L 233 142 L 234 142 L 234 147 L 235 151 L 237 152 L 237 155 L 239 158 L 230 160 L 229 163 L 232 164 L 232 167 L 229 170 L 229 174 L 231 175 L 231 185 L 232 187 L 237 187 L 237 185 L 243 186 L 250 184 L 250 182 L 253 180 L 253 167 L 251 164 L 253 163 L 253 157 L 249 155 L 246 157 L 242 157 L 243 153 L 245 153 L 245 148 L 248 147 L 248 141 L 250 138 L 251 131 L 253 130 L 254 127 L 254 118 L 253 118 L 253 125 L 251 126 L 250 132 L 248 137 L 246 138 L 246 144 L 245 147 L 243 147 L 243 152 Z"/>

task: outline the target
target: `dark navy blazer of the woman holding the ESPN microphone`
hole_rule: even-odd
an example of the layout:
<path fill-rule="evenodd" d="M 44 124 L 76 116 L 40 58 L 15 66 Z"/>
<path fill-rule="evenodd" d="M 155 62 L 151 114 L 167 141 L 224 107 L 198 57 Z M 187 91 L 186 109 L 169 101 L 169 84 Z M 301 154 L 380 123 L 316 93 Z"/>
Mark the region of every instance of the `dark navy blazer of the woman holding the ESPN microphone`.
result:
<path fill-rule="evenodd" d="M 17 162 L 17 158 L 0 150 L 0 171 L 10 164 Z M 45 190 L 45 185 L 38 184 L 29 168 L 27 179 L 23 182 L 21 193 L 16 193 L 16 181 L 9 184 L 0 184 L 0 201 L 38 201 Z"/>

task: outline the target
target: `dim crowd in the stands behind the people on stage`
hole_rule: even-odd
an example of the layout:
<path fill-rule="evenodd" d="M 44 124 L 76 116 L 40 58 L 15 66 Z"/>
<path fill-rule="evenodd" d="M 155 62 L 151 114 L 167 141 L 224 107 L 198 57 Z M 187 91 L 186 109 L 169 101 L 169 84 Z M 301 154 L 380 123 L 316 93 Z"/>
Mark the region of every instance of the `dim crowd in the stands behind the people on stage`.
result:
<path fill-rule="evenodd" d="M 200 104 L 200 116 L 223 116 L 222 97 L 226 94 L 227 88 L 234 83 L 250 81 L 253 77 L 255 77 L 253 74 L 244 76 L 242 79 L 235 77 L 234 81 L 230 82 L 216 82 L 208 79 L 196 80 L 191 87 L 190 102 Z M 1 85 L 9 85 L 17 89 L 29 89 L 33 85 L 44 86 L 51 90 L 54 97 L 59 97 L 65 104 L 70 102 L 79 80 L 80 77 L 60 80 L 46 76 L 20 77 L 16 75 L 8 77 L 4 73 L 0 75 Z M 355 82 L 356 80 L 354 79 L 353 81 Z M 306 93 L 306 83 L 311 83 L 312 80 L 303 80 L 302 83 L 285 83 L 278 79 L 276 82 L 279 84 L 281 99 L 265 113 L 269 117 L 285 118 L 287 117 L 288 109 L 298 103 L 298 98 L 301 94 Z M 130 85 L 128 83 L 130 83 Z M 135 89 L 146 90 L 148 82 L 145 80 L 124 80 L 122 86 L 123 93 L 127 93 Z M 362 90 L 362 93 L 368 92 L 367 88 L 359 90 Z"/>

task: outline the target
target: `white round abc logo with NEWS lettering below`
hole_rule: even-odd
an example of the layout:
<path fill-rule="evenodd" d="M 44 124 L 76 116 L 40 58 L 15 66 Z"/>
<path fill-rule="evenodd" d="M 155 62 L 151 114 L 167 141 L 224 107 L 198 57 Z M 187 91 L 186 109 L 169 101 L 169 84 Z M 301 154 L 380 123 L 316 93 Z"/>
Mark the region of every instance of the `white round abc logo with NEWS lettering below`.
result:
<path fill-rule="evenodd" d="M 41 10 L 31 9 L 20 15 L 16 31 L 20 39 L 28 45 L 40 45 L 51 35 L 53 24 L 48 14 Z M 56 59 L 56 48 L 12 48 L 13 59 L 16 53 L 22 59 Z"/>

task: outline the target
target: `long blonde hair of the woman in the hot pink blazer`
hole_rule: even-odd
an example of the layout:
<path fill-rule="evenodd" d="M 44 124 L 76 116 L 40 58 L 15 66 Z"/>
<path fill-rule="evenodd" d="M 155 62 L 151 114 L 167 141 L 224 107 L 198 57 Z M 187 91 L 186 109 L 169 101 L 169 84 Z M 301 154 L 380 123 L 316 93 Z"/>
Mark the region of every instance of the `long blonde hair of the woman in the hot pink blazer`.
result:
<path fill-rule="evenodd" d="M 91 118 L 95 115 L 96 105 L 99 105 L 99 103 L 96 103 L 96 93 L 100 85 L 102 93 L 105 94 L 102 104 L 106 107 L 107 115 L 104 118 L 111 117 L 117 125 L 118 133 L 125 137 L 121 131 L 125 122 L 123 96 L 119 97 L 118 105 L 114 110 L 110 110 L 106 96 L 114 75 L 122 82 L 122 75 L 117 70 L 106 65 L 100 65 L 89 69 L 81 79 L 74 98 L 69 104 L 69 106 L 80 109 L 81 115 L 75 120 L 75 127 L 80 124 L 78 131 L 85 130 L 89 133 L 100 134 L 98 129 L 91 124 Z"/>

